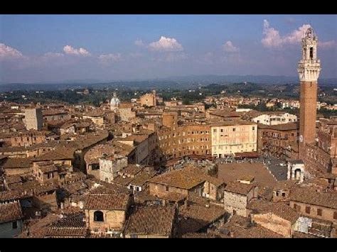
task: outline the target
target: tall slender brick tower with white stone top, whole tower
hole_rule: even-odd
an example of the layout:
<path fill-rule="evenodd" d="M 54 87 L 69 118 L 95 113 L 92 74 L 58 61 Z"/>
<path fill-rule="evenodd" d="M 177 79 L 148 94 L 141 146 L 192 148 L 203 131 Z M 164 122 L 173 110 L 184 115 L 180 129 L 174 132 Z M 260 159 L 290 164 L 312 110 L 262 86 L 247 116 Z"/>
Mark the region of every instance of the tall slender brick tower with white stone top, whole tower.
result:
<path fill-rule="evenodd" d="M 299 109 L 299 158 L 304 158 L 306 143 L 316 137 L 317 79 L 321 60 L 317 59 L 317 36 L 312 28 L 301 40 L 302 58 L 299 60 L 300 109 Z"/>

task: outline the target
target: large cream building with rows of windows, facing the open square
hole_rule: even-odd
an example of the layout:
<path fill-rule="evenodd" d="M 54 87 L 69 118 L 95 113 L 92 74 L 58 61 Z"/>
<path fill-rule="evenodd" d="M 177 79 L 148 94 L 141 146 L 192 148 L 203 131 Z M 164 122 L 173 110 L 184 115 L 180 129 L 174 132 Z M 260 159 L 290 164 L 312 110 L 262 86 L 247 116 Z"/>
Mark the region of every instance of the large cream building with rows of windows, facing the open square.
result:
<path fill-rule="evenodd" d="M 223 158 L 234 153 L 257 151 L 257 124 L 246 121 L 213 123 L 210 126 L 212 155 Z"/>

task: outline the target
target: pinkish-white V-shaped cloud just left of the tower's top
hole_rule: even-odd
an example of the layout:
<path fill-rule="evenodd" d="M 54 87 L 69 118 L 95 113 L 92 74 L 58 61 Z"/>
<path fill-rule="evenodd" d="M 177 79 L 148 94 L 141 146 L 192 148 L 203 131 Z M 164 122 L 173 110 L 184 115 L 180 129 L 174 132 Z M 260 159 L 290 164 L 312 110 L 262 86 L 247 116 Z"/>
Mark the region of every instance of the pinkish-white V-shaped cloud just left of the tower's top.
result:
<path fill-rule="evenodd" d="M 309 24 L 304 24 L 297 30 L 292 31 L 288 35 L 281 36 L 279 31 L 269 26 L 269 22 L 263 21 L 263 35 L 261 42 L 267 48 L 282 48 L 284 45 L 293 45 L 299 43 L 304 37 L 306 30 L 310 27 Z"/>

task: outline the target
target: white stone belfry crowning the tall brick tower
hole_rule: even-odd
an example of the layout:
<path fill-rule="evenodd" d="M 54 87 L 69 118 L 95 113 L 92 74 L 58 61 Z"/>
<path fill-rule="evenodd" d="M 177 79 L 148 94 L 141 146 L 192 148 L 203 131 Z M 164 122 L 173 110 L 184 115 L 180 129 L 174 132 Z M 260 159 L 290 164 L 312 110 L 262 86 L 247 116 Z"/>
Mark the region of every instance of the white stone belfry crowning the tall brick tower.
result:
<path fill-rule="evenodd" d="M 302 82 L 316 82 L 321 71 L 321 60 L 317 59 L 318 38 L 310 27 L 306 35 L 301 39 L 302 58 L 299 60 L 299 80 Z"/>

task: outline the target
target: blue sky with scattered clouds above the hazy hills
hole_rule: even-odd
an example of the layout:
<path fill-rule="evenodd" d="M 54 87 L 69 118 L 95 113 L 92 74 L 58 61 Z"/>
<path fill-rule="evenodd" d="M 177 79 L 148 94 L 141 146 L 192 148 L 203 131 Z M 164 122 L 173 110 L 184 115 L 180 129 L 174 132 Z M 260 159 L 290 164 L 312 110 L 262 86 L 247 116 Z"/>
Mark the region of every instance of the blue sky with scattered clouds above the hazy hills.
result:
<path fill-rule="evenodd" d="M 309 26 L 337 77 L 337 15 L 0 15 L 0 82 L 297 76 Z"/>

